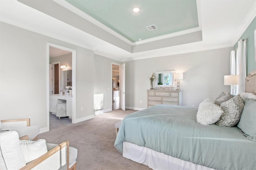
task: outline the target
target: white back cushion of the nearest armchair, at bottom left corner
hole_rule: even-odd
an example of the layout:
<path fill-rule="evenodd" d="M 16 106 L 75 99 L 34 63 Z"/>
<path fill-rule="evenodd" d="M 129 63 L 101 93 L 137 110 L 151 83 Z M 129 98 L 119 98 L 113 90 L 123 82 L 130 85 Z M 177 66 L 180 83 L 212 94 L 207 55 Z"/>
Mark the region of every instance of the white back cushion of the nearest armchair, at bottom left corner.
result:
<path fill-rule="evenodd" d="M 26 165 L 15 131 L 0 131 L 0 169 L 17 170 Z"/>

